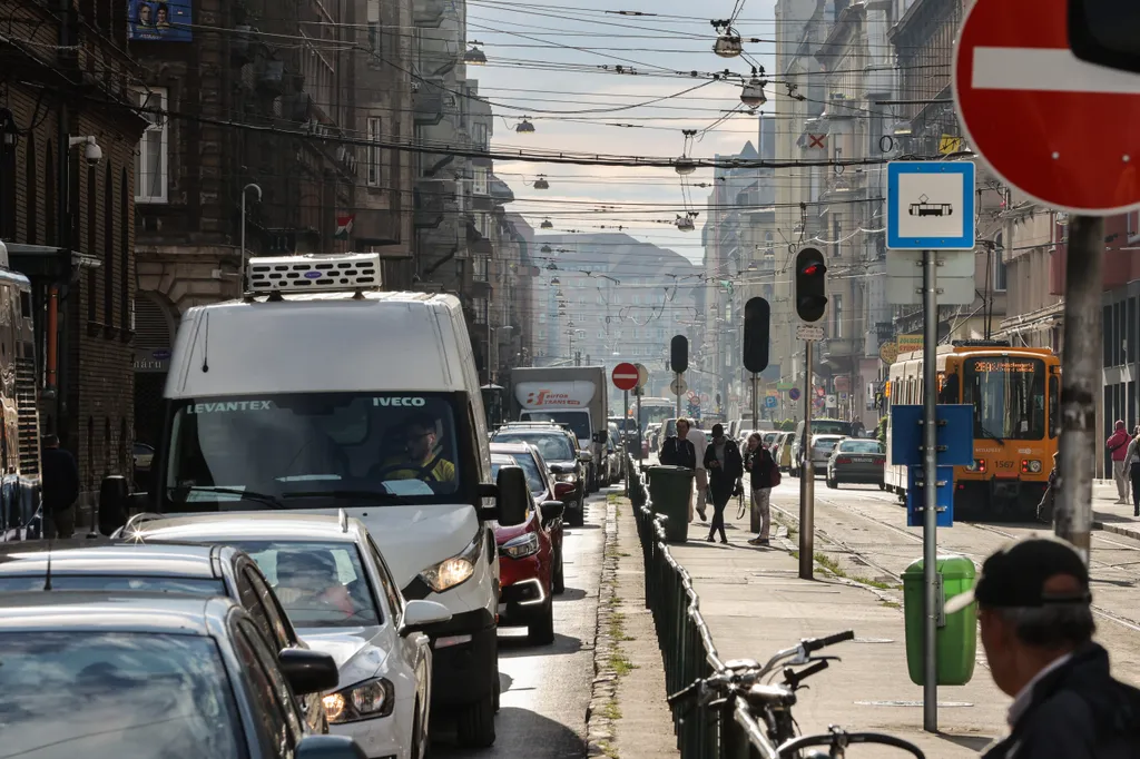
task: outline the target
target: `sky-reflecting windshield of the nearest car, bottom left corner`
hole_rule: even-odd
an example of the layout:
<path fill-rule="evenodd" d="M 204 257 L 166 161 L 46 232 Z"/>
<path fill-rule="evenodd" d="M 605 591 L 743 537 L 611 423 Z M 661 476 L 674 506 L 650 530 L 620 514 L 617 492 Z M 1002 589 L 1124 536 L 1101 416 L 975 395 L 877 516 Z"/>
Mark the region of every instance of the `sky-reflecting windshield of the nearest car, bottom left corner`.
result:
<path fill-rule="evenodd" d="M 212 638 L 0 632 L 0 756 L 237 759 L 242 724 Z"/>

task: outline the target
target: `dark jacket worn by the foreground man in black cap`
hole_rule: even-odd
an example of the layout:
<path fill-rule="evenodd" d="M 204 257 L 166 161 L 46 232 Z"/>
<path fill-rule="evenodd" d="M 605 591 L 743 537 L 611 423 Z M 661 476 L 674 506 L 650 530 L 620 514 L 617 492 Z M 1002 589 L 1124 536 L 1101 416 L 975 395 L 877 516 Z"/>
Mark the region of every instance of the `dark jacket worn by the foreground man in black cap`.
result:
<path fill-rule="evenodd" d="M 1012 732 L 983 759 L 1137 759 L 1140 691 L 1113 679 L 1108 652 L 1089 643 L 1033 686 Z"/>

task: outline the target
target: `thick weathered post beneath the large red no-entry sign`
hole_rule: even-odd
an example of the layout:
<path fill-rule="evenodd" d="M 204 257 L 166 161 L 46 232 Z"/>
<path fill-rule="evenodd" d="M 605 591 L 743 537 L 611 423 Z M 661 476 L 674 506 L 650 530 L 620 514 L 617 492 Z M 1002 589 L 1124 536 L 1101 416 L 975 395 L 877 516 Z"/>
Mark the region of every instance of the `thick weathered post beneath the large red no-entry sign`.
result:
<path fill-rule="evenodd" d="M 1097 397 L 1100 384 L 1100 341 L 1104 334 L 1100 297 L 1105 255 L 1105 220 L 1069 218 L 1068 260 L 1065 263 L 1065 345 L 1061 353 L 1060 498 L 1053 531 L 1073 544 L 1085 563 L 1092 530 L 1092 476 L 1097 441 Z"/>

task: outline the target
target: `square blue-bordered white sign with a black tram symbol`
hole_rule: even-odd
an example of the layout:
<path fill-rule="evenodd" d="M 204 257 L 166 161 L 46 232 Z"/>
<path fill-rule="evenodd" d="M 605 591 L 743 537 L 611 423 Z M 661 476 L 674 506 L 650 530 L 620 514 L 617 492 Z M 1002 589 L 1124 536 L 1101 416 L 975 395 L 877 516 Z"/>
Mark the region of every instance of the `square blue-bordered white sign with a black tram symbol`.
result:
<path fill-rule="evenodd" d="M 972 251 L 974 171 L 970 161 L 888 163 L 887 250 Z"/>

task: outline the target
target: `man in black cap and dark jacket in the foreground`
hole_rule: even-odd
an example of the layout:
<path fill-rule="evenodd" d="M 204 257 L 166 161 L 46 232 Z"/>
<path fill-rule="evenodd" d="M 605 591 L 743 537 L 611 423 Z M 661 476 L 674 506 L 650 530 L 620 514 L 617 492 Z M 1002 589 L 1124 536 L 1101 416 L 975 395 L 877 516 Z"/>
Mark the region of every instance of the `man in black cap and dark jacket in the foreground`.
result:
<path fill-rule="evenodd" d="M 994 683 L 1013 696 L 1010 734 L 985 759 L 1140 757 L 1140 691 L 1113 679 L 1092 642 L 1089 570 L 1069 544 L 1033 537 L 999 550 L 946 613 L 974 601 Z"/>

